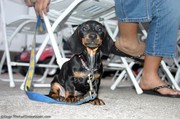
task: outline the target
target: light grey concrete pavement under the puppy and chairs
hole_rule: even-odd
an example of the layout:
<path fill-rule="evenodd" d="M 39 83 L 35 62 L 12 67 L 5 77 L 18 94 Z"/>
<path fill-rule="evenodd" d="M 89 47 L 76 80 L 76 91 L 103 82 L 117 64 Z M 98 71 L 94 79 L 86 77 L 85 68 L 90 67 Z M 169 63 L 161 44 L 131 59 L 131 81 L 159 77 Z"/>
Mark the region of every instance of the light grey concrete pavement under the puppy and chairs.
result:
<path fill-rule="evenodd" d="M 106 105 L 72 106 L 31 101 L 19 89 L 21 83 L 10 88 L 0 81 L 0 119 L 180 119 L 180 99 L 138 95 L 132 87 L 112 91 L 112 83 L 111 77 L 102 79 L 99 97 Z M 49 88 L 34 91 L 47 94 Z"/>

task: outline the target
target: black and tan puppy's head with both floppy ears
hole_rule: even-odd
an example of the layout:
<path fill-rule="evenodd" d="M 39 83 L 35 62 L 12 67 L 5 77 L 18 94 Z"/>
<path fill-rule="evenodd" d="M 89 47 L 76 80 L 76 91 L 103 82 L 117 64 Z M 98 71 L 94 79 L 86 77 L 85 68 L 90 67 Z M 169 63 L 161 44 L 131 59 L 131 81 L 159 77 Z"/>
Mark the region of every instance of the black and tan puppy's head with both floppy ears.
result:
<path fill-rule="evenodd" d="M 92 50 L 100 48 L 104 55 L 108 55 L 113 44 L 105 27 L 92 20 L 79 25 L 67 42 L 75 54 L 79 54 L 87 48 Z"/>

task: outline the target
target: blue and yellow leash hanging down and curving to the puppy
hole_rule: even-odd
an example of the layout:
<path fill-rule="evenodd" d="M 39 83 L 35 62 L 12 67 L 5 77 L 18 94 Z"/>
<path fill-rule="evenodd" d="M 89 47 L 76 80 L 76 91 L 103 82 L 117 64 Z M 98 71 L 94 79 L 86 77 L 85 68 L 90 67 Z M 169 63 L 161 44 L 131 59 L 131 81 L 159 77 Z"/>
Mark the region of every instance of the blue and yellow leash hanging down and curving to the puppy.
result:
<path fill-rule="evenodd" d="M 24 85 L 24 90 L 25 90 L 25 93 L 27 94 L 28 98 L 31 100 L 34 100 L 34 101 L 38 101 L 38 102 L 69 104 L 69 105 L 80 105 L 80 104 L 86 103 L 88 101 L 94 100 L 97 96 L 95 93 L 92 94 L 91 96 L 85 97 L 84 99 L 82 99 L 78 102 L 67 103 L 67 102 L 57 101 L 55 99 L 52 99 L 52 98 L 50 98 L 46 95 L 40 94 L 40 93 L 33 92 L 32 81 L 34 78 L 34 71 L 35 71 L 35 66 L 36 66 L 36 55 L 35 55 L 36 32 L 39 30 L 39 32 L 42 33 L 43 31 L 45 31 L 45 29 L 46 29 L 46 27 L 45 27 L 44 21 L 41 19 L 40 16 L 38 16 L 37 24 L 36 24 L 36 31 L 34 33 L 34 40 L 32 42 L 30 66 L 28 69 L 28 73 L 26 75 L 25 85 Z"/>

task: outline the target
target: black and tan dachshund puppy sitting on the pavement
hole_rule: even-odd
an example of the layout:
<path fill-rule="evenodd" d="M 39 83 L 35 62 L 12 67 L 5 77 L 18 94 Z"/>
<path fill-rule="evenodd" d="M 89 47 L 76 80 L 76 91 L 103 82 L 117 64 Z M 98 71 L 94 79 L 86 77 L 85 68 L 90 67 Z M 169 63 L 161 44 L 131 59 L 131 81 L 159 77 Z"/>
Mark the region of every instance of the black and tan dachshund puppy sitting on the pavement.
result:
<path fill-rule="evenodd" d="M 110 53 L 113 44 L 105 27 L 97 21 L 84 22 L 77 27 L 68 44 L 75 55 L 63 64 L 60 73 L 51 82 L 49 96 L 74 103 L 93 89 L 97 97 L 90 103 L 104 105 L 103 100 L 98 98 L 103 73 L 101 57 Z"/>

